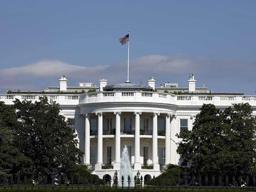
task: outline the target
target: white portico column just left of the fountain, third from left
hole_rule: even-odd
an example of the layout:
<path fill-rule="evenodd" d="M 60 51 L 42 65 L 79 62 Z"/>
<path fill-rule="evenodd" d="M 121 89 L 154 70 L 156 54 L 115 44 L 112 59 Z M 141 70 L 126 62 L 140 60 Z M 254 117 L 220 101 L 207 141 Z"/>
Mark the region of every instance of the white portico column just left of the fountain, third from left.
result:
<path fill-rule="evenodd" d="M 121 116 L 121 112 L 114 112 L 114 115 L 116 115 L 116 157 L 115 157 L 115 164 L 114 164 L 114 170 L 116 169 L 120 169 L 121 167 L 121 142 L 120 142 L 120 116 Z"/>

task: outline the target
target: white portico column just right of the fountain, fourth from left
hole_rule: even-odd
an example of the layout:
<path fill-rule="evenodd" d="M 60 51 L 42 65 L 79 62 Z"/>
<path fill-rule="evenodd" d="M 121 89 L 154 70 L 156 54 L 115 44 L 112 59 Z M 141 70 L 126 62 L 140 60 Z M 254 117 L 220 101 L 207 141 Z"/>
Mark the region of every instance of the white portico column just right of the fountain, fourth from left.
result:
<path fill-rule="evenodd" d="M 135 115 L 135 152 L 134 152 L 134 169 L 141 169 L 140 164 L 140 112 L 134 112 Z"/>

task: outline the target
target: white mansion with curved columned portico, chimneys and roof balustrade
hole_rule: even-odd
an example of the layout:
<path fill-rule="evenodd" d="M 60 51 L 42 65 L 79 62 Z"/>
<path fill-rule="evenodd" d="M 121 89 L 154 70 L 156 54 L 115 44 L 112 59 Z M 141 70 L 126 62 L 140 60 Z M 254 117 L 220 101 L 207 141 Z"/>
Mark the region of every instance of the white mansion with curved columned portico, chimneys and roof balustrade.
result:
<path fill-rule="evenodd" d="M 119 174 L 124 145 L 128 147 L 133 176 L 138 171 L 143 177 L 158 176 L 168 164 L 187 166 L 185 154 L 180 156 L 176 152 L 181 141 L 176 134 L 184 129 L 192 130 L 203 104 L 211 103 L 223 110 L 233 103 L 248 102 L 256 108 L 255 95 L 209 95 L 207 88 L 196 88 L 194 75 L 190 76 L 187 88 L 179 88 L 178 84 L 155 87 L 153 77 L 148 85 L 107 85 L 104 79 L 100 80 L 100 87 L 93 87 L 92 83 L 68 87 L 65 76 L 59 81 L 60 87 L 45 89 L 44 96 L 60 104 L 60 114 L 66 119 L 75 120 L 70 128 L 77 134 L 77 147 L 85 153 L 82 164 L 88 165 L 89 171 L 100 178 L 107 174 L 113 178 L 116 171 Z M 80 88 L 95 88 L 96 92 L 70 94 L 68 91 Z M 155 88 L 159 92 L 152 92 Z M 165 89 L 183 94 L 164 93 Z M 64 94 L 56 94 L 60 92 Z M 15 99 L 36 101 L 39 96 L 42 95 L 2 94 L 0 101 L 12 105 Z"/>

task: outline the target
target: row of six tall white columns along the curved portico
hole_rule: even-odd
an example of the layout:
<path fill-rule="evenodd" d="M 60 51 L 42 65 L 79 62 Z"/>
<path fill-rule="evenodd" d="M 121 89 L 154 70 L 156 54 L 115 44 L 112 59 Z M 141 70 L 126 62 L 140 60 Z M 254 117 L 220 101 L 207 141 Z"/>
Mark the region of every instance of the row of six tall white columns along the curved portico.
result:
<path fill-rule="evenodd" d="M 100 167 L 103 164 L 103 117 L 101 112 L 95 113 L 98 116 L 98 153 L 96 167 Z M 121 142 L 120 142 L 120 130 L 121 130 L 121 112 L 114 112 L 116 115 L 116 142 L 115 142 L 115 164 L 114 169 L 119 169 L 121 164 Z M 135 115 L 135 153 L 134 153 L 134 169 L 141 169 L 140 162 L 140 115 L 141 112 L 134 112 Z M 153 113 L 153 134 L 152 134 L 152 164 L 154 169 L 159 169 L 157 158 L 157 117 L 160 113 Z M 165 164 L 171 163 L 171 114 L 165 115 Z M 90 114 L 84 114 L 85 117 L 85 158 L 84 164 L 90 164 Z"/>

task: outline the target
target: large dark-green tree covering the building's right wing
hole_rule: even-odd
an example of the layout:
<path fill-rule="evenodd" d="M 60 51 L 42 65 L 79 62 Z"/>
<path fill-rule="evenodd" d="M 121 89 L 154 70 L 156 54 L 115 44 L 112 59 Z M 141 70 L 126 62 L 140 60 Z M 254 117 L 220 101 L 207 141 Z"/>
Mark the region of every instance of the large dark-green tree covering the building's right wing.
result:
<path fill-rule="evenodd" d="M 186 154 L 195 175 L 255 174 L 255 117 L 248 103 L 220 111 L 204 104 L 192 131 L 185 130 L 177 152 Z"/>

